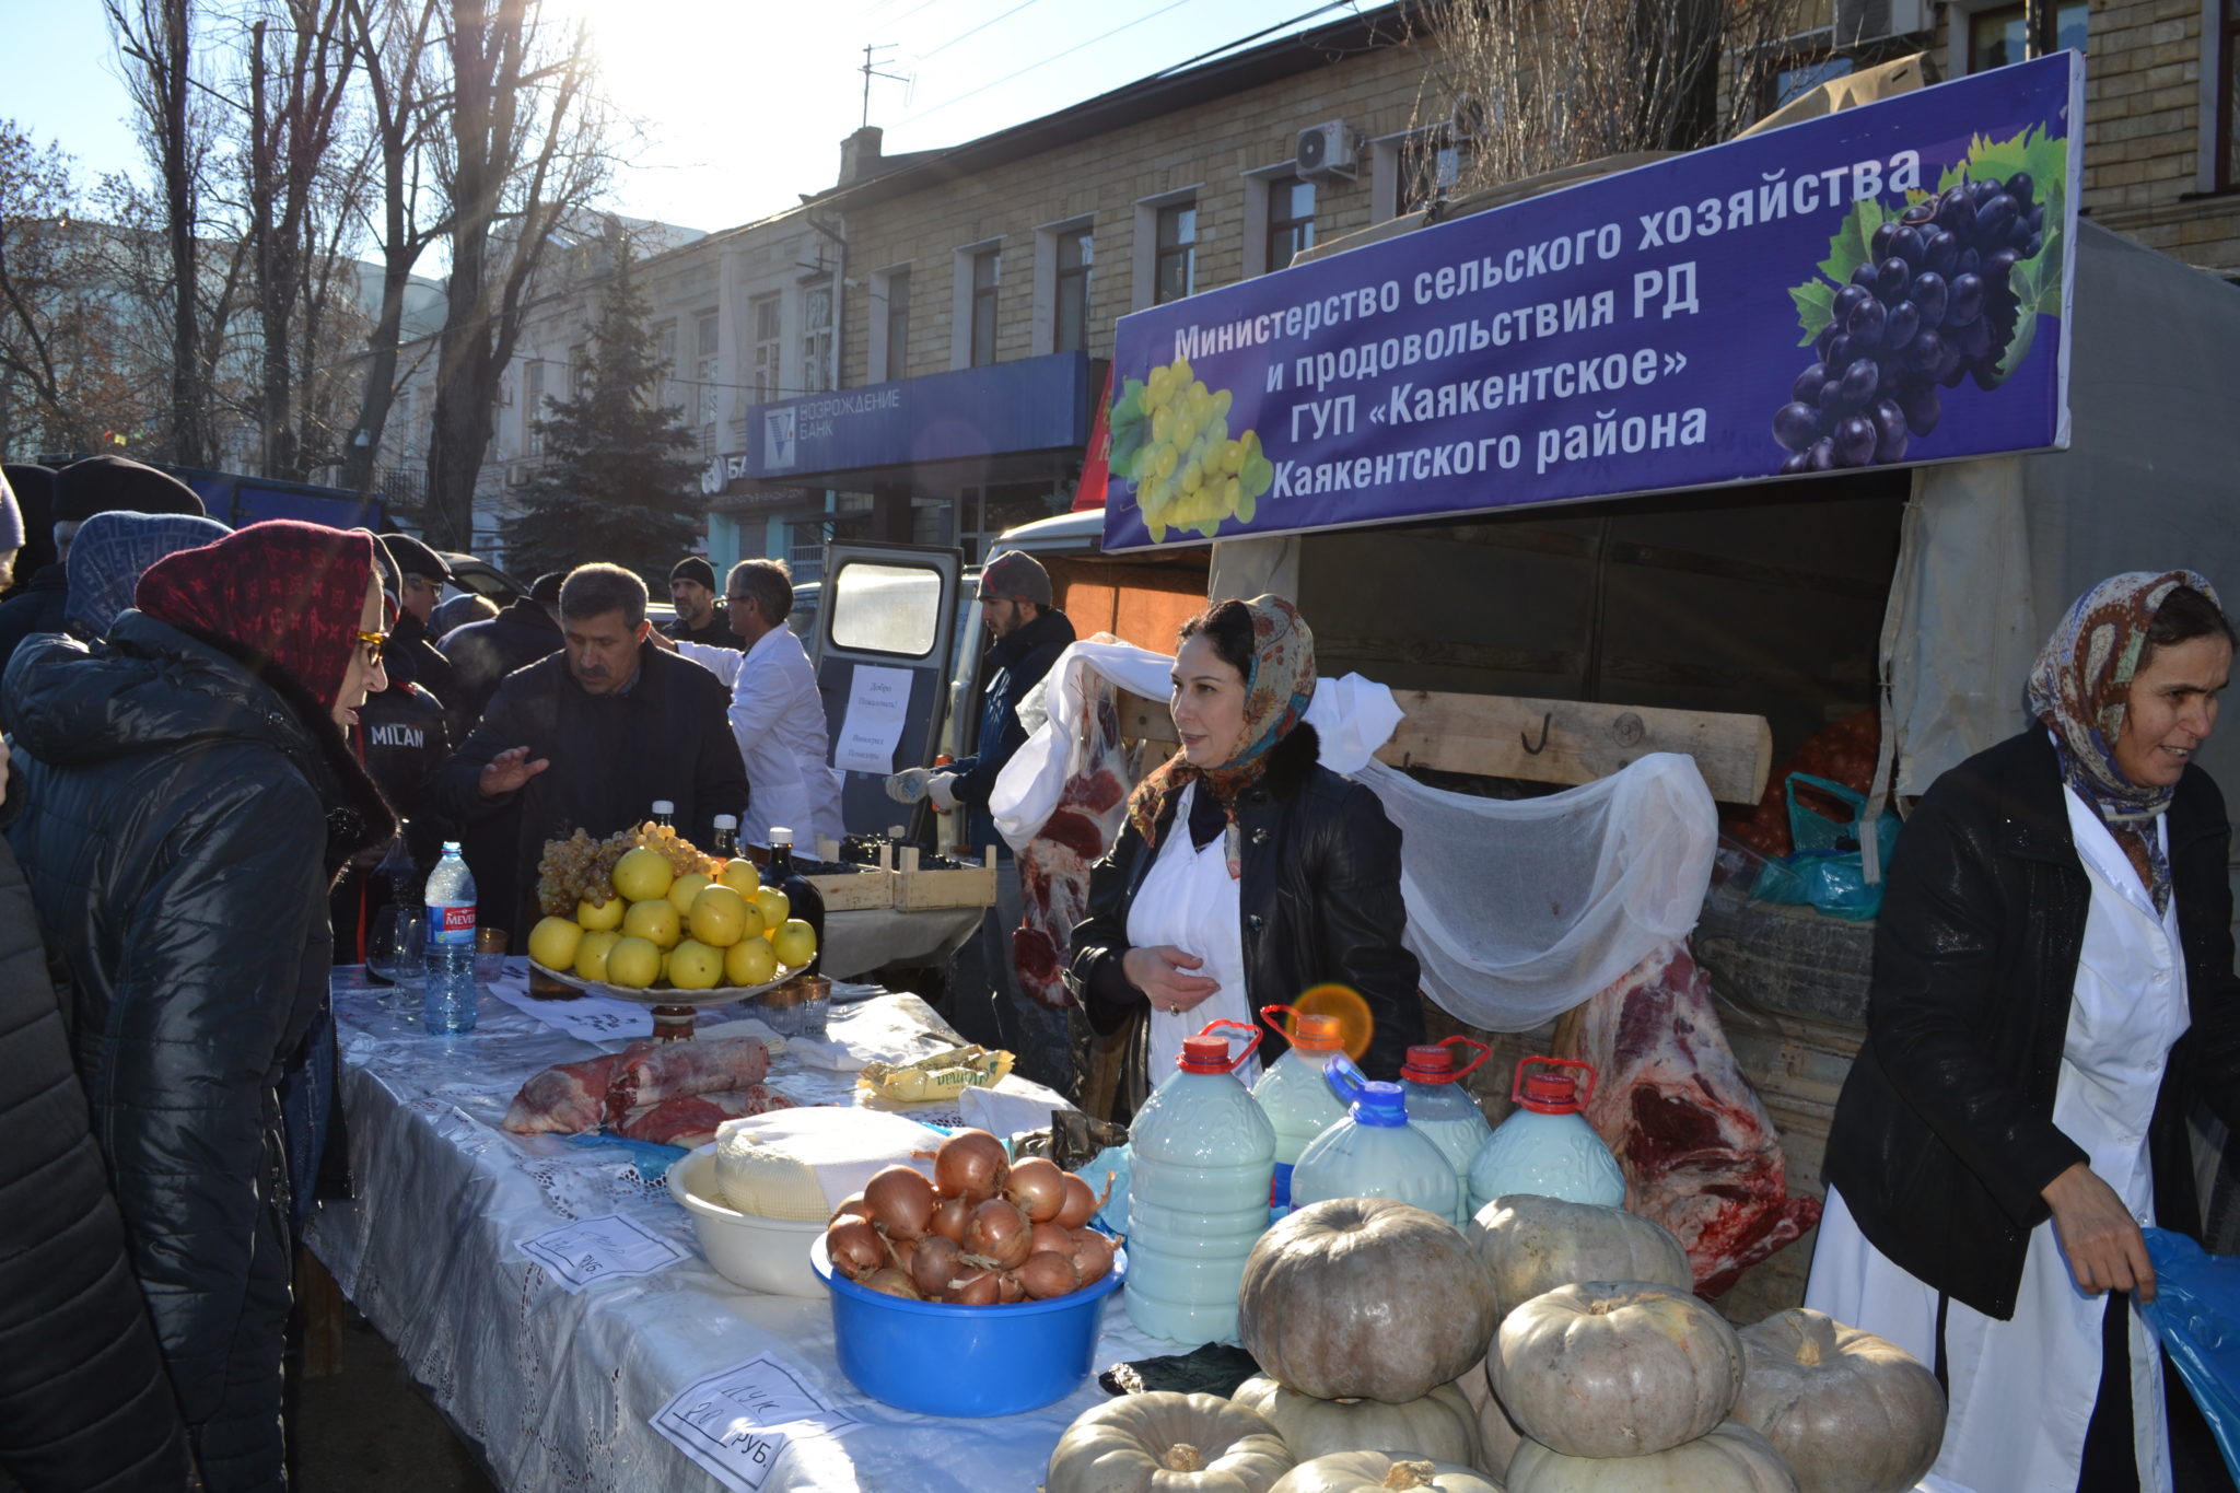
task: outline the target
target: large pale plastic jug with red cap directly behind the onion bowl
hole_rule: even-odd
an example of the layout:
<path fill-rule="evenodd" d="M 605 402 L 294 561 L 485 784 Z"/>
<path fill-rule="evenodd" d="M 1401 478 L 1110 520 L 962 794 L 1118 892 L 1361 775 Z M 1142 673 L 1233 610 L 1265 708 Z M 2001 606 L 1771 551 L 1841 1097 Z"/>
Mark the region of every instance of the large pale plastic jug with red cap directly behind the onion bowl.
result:
<path fill-rule="evenodd" d="M 1245 1034 L 1230 1054 L 1230 1027 Z M 1236 1339 L 1236 1287 L 1268 1229 L 1275 1126 L 1236 1079 L 1259 1027 L 1214 1021 L 1129 1126 L 1127 1314 L 1192 1348 Z"/>

